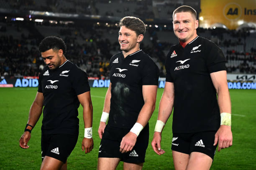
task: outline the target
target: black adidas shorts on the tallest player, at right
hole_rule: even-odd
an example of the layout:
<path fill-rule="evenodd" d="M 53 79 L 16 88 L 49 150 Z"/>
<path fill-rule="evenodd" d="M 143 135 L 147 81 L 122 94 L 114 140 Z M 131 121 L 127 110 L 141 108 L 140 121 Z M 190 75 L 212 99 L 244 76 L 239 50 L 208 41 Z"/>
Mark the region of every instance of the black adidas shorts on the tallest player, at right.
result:
<path fill-rule="evenodd" d="M 172 150 L 188 155 L 192 152 L 200 152 L 213 160 L 217 148 L 217 145 L 213 146 L 216 132 L 173 133 Z"/>

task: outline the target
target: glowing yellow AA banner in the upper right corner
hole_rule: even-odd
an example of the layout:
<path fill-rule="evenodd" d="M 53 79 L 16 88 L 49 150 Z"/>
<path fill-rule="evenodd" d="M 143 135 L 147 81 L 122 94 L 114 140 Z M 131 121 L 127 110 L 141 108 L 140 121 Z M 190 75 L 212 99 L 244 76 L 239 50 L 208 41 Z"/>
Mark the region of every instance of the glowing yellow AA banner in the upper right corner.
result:
<path fill-rule="evenodd" d="M 256 24 L 256 0 L 201 0 L 200 27 L 223 24 L 228 29 L 243 23 Z"/>

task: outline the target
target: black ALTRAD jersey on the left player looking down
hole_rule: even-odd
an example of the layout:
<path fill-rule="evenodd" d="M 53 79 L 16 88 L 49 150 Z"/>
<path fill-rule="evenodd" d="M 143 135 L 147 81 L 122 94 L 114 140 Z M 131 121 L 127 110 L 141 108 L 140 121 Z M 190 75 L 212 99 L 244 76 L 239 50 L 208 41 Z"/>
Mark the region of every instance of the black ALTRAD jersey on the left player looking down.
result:
<path fill-rule="evenodd" d="M 38 92 L 44 95 L 42 134 L 78 134 L 77 95 L 87 91 L 86 72 L 69 60 L 54 70 L 44 67 L 38 80 Z"/>

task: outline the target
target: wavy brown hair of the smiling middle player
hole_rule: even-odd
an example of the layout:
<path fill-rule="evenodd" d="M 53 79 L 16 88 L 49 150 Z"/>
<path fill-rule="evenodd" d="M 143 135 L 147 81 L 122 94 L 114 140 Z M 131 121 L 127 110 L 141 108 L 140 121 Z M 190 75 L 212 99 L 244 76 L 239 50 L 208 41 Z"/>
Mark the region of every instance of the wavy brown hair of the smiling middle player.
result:
<path fill-rule="evenodd" d="M 125 26 L 126 28 L 133 30 L 138 35 L 144 35 L 146 32 L 146 26 L 142 20 L 136 17 L 124 17 L 120 20 L 119 27 Z"/>

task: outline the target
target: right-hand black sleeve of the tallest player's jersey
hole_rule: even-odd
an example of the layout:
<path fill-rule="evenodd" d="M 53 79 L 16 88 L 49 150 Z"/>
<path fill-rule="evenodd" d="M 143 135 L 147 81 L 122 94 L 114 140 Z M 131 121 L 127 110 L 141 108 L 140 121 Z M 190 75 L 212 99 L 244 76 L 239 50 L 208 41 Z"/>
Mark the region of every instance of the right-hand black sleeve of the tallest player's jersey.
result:
<path fill-rule="evenodd" d="M 210 42 L 209 45 L 209 55 L 206 58 L 207 68 L 210 73 L 226 70 L 225 67 L 225 57 L 220 49 L 214 42 Z"/>

